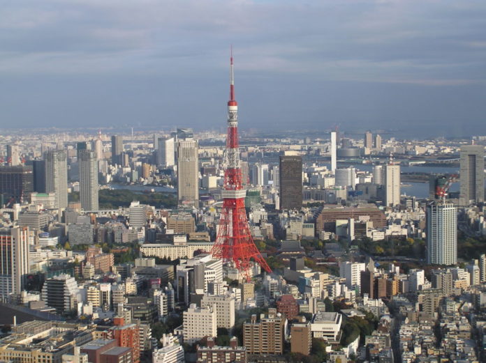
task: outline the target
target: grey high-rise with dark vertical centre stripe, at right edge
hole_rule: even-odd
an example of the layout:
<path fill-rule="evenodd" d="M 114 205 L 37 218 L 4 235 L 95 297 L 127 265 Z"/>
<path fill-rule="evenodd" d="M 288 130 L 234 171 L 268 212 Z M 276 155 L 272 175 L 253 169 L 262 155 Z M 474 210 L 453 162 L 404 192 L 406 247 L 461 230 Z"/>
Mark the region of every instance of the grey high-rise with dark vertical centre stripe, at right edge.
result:
<path fill-rule="evenodd" d="M 459 204 L 467 206 L 485 200 L 485 148 L 464 145 L 460 152 Z"/>

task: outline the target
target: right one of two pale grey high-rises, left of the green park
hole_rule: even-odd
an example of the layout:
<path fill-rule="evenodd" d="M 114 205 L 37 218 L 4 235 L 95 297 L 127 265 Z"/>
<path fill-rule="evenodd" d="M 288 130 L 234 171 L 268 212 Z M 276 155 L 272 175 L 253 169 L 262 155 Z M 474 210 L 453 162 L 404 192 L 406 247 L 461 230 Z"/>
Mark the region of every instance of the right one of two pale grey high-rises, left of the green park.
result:
<path fill-rule="evenodd" d="M 78 163 L 81 208 L 98 210 L 98 161 L 94 151 L 87 150 L 84 142 L 78 143 Z"/>

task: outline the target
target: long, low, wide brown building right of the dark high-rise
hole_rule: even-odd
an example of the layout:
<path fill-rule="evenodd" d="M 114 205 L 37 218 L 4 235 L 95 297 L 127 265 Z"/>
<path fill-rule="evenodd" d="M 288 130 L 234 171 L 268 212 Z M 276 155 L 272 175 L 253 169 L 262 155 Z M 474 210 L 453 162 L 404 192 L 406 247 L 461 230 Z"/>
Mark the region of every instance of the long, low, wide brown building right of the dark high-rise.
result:
<path fill-rule="evenodd" d="M 385 213 L 378 208 L 324 208 L 316 218 L 316 231 L 335 232 L 337 219 L 358 220 L 360 217 L 369 218 L 374 228 L 383 228 L 387 224 Z"/>

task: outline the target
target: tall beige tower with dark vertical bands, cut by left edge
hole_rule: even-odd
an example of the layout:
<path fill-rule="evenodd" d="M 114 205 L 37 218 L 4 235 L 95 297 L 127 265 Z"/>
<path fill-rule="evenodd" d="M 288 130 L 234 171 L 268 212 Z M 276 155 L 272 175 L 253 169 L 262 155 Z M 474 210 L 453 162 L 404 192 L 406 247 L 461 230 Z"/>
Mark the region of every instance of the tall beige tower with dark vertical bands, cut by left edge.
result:
<path fill-rule="evenodd" d="M 29 229 L 0 229 L 0 300 L 20 294 L 29 273 Z"/>

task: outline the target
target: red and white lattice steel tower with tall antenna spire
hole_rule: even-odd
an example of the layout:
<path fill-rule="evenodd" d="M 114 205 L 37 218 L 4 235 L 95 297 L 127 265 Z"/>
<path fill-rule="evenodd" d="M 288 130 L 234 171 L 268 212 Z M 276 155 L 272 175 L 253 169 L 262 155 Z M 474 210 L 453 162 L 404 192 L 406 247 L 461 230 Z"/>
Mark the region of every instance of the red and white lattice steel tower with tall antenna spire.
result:
<path fill-rule="evenodd" d="M 230 100 L 228 101 L 228 137 L 226 139 L 226 169 L 224 171 L 223 209 L 219 221 L 219 231 L 212 248 L 212 255 L 233 263 L 246 278 L 251 279 L 250 261 L 253 259 L 267 272 L 272 272 L 265 259 L 256 248 L 251 237 L 242 187 L 240 149 L 238 147 L 238 104 L 235 100 L 233 79 L 233 52 L 230 57 Z"/>

